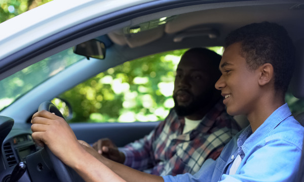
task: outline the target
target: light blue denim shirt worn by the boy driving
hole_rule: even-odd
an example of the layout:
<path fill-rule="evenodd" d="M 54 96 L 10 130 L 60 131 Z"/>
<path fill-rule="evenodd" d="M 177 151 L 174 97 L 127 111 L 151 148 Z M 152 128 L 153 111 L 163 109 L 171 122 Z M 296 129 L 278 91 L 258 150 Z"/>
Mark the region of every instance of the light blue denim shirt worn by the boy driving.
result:
<path fill-rule="evenodd" d="M 304 128 L 284 104 L 252 133 L 250 125 L 223 149 L 216 161 L 208 159 L 194 175 L 163 176 L 169 181 L 288 181 L 295 179 L 301 158 Z M 230 167 L 240 155 L 236 174 Z"/>

